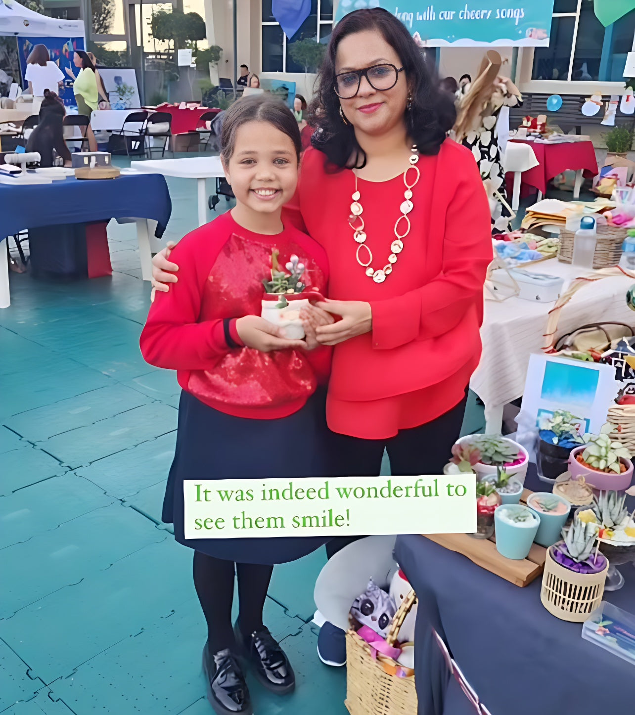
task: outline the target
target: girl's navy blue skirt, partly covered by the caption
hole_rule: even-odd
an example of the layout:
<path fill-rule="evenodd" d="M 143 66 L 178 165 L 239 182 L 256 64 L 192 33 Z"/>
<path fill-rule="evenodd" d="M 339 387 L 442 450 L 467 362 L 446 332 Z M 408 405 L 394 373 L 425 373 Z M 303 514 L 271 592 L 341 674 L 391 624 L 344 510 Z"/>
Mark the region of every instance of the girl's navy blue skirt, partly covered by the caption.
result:
<path fill-rule="evenodd" d="M 338 476 L 340 435 L 326 425 L 326 390 L 318 390 L 293 415 L 248 420 L 208 407 L 181 393 L 179 430 L 169 470 L 162 520 L 174 538 L 210 556 L 239 563 L 285 563 L 306 556 L 330 537 L 184 538 L 183 481 Z"/>

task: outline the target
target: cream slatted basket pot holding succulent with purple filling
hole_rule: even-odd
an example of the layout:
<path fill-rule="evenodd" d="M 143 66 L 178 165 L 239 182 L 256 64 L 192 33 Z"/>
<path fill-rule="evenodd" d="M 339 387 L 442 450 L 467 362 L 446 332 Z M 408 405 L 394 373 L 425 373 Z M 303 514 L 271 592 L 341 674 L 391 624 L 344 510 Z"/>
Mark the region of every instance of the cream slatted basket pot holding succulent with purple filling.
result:
<path fill-rule="evenodd" d="M 548 548 L 540 600 L 549 613 L 562 621 L 586 621 L 602 601 L 607 571 L 608 560 L 599 573 L 569 571 L 551 558 L 551 548 Z"/>

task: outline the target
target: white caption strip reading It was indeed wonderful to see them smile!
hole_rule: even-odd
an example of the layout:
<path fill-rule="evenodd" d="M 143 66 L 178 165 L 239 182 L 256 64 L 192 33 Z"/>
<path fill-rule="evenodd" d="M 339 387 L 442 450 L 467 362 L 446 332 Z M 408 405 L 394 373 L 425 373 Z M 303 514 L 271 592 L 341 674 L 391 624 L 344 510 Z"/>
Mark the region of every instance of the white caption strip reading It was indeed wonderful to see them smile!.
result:
<path fill-rule="evenodd" d="M 187 480 L 185 538 L 473 533 L 476 476 Z"/>

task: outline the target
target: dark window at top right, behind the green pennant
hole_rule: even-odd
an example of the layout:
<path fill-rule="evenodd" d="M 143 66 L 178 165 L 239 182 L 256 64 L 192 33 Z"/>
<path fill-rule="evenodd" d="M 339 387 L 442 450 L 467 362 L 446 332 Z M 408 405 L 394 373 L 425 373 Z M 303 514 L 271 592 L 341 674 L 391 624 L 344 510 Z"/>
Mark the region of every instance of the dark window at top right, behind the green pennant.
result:
<path fill-rule="evenodd" d="M 531 79 L 622 82 L 635 32 L 635 10 L 604 27 L 594 0 L 556 0 L 548 47 L 533 51 Z"/>

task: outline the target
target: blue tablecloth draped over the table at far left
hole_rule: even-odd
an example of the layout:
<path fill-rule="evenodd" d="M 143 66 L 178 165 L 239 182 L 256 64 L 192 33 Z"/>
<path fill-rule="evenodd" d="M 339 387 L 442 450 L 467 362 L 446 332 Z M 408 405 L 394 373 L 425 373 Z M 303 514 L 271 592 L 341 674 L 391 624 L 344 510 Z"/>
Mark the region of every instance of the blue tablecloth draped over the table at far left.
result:
<path fill-rule="evenodd" d="M 161 237 L 172 202 L 161 174 L 117 179 L 67 177 L 51 184 L 0 184 L 0 240 L 38 226 L 121 219 L 154 219 Z"/>

